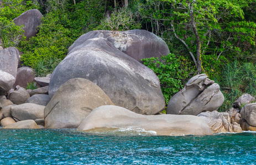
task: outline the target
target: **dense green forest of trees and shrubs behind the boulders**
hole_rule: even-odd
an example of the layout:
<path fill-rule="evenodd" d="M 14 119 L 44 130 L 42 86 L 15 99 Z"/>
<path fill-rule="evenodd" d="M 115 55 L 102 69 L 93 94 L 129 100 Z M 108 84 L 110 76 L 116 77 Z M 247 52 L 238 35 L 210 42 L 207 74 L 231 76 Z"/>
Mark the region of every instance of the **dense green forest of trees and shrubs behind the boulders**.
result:
<path fill-rule="evenodd" d="M 166 103 L 192 76 L 205 73 L 220 84 L 226 111 L 242 94 L 256 96 L 256 1 L 236 0 L 4 0 L 0 1 L 2 46 L 23 52 L 23 65 L 38 76 L 52 73 L 67 48 L 92 30 L 143 29 L 170 49 L 143 59 L 161 81 Z M 13 19 L 29 9 L 44 15 L 39 33 L 25 40 Z"/>

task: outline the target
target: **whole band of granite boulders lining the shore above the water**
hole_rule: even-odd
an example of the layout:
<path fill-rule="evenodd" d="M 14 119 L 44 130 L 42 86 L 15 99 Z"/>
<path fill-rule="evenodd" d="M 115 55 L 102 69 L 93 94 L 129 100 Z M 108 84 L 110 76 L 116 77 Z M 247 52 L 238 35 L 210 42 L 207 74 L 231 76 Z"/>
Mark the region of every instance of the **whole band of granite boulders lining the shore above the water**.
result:
<path fill-rule="evenodd" d="M 26 19 L 33 17 L 29 12 L 37 11 L 25 12 Z M 35 31 L 36 26 L 31 27 Z M 32 68 L 20 65 L 17 48 L 4 48 L 0 51 L 1 126 L 80 131 L 134 127 L 175 136 L 256 130 L 255 98 L 245 94 L 227 112 L 217 112 L 224 96 L 206 74 L 191 78 L 171 98 L 167 114 L 159 114 L 165 100 L 158 76 L 139 61 L 168 53 L 166 43 L 145 30 L 91 31 L 70 46 L 53 74 L 36 78 Z M 33 81 L 41 87 L 25 90 Z"/>

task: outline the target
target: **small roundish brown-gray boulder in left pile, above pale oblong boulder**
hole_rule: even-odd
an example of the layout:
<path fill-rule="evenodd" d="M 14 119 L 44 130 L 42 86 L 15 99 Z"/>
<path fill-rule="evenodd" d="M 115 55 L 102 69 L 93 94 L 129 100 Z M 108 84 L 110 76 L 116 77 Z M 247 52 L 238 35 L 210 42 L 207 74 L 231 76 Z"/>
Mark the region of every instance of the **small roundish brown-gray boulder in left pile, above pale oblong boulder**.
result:
<path fill-rule="evenodd" d="M 19 89 L 9 94 L 8 97 L 9 100 L 11 100 L 15 105 L 21 105 L 28 100 L 30 95 L 23 87 L 20 87 Z"/>

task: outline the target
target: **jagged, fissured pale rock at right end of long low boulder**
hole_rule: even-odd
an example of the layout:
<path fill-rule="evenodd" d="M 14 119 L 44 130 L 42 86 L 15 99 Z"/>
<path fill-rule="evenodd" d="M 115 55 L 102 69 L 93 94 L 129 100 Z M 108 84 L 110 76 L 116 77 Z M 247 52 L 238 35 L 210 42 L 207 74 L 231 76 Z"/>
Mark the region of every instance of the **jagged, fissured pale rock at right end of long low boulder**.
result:
<path fill-rule="evenodd" d="M 202 112 L 197 115 L 205 119 L 213 133 L 237 132 L 242 133 L 242 128 L 237 123 L 232 123 L 227 112 Z M 233 129 L 234 128 L 234 129 Z"/>

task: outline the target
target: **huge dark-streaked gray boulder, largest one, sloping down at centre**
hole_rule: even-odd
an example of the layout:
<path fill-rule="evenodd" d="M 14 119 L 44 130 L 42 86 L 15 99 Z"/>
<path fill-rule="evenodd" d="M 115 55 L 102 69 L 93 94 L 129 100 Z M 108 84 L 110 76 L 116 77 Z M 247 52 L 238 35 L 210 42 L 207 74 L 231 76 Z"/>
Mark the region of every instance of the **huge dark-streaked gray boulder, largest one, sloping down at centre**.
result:
<path fill-rule="evenodd" d="M 156 114 L 165 108 L 158 76 L 103 38 L 83 42 L 60 62 L 51 75 L 50 97 L 72 78 L 92 81 L 115 105 L 136 113 Z"/>

